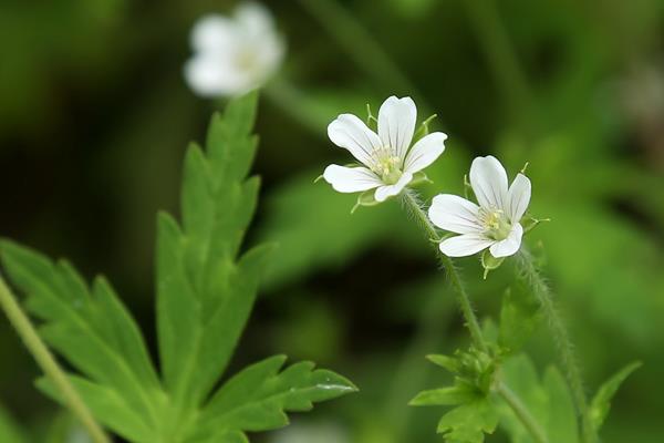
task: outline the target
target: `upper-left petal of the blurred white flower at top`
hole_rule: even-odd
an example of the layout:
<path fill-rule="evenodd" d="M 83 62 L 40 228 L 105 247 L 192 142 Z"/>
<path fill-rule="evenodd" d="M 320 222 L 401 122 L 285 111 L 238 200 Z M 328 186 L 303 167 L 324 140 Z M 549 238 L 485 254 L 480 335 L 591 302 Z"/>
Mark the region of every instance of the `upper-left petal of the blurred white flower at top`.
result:
<path fill-rule="evenodd" d="M 219 14 L 204 16 L 191 31 L 191 47 L 200 52 L 226 52 L 237 47 L 240 39 L 237 23 Z"/>

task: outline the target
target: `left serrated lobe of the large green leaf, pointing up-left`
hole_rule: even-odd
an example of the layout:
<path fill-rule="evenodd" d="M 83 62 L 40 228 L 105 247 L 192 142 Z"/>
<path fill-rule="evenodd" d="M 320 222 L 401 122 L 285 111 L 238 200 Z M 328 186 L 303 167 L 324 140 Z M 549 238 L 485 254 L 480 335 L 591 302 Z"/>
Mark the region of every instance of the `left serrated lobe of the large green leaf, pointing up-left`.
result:
<path fill-rule="evenodd" d="M 66 261 L 11 241 L 0 256 L 27 307 L 44 323 L 41 336 L 92 381 L 113 390 L 147 426 L 156 426 L 154 392 L 160 383 L 133 318 L 102 278 L 92 291 Z"/>

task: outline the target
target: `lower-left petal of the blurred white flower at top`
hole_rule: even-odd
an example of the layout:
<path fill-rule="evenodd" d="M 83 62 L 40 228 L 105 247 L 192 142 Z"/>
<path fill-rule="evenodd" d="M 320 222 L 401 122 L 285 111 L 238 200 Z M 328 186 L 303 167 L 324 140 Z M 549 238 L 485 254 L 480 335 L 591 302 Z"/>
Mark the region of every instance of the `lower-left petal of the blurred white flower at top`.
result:
<path fill-rule="evenodd" d="M 245 72 L 226 58 L 197 55 L 185 64 L 185 79 L 198 95 L 206 97 L 239 95 L 252 87 Z"/>

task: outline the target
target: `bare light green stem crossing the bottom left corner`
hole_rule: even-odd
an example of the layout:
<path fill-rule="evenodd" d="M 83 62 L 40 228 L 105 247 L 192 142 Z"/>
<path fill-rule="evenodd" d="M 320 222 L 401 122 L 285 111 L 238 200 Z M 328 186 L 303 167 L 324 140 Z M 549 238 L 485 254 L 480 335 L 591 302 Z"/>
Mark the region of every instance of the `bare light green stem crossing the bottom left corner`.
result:
<path fill-rule="evenodd" d="M 23 312 L 15 297 L 0 276 L 0 306 L 9 318 L 18 334 L 25 343 L 25 347 L 44 371 L 46 377 L 51 379 L 53 384 L 60 390 L 65 404 L 85 426 L 87 433 L 94 443 L 111 443 L 111 439 L 104 433 L 102 427 L 96 423 L 92 413 L 83 403 L 74 387 L 70 383 L 64 371 L 60 368 L 49 348 L 41 340 L 34 326 L 30 322 L 28 316 Z"/>

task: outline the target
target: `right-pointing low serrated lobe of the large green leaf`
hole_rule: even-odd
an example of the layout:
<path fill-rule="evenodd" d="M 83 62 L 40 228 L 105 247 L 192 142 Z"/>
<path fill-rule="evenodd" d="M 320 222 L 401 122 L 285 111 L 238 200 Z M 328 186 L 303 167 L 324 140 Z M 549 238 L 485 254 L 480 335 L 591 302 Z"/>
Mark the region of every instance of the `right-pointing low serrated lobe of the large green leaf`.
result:
<path fill-rule="evenodd" d="M 309 411 L 314 402 L 353 392 L 356 388 L 311 362 L 279 372 L 286 357 L 276 356 L 250 365 L 224 384 L 200 413 L 194 441 L 201 435 L 234 431 L 267 431 L 288 424 L 288 411 Z"/>

